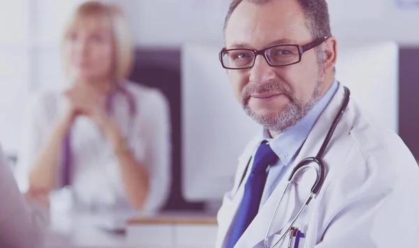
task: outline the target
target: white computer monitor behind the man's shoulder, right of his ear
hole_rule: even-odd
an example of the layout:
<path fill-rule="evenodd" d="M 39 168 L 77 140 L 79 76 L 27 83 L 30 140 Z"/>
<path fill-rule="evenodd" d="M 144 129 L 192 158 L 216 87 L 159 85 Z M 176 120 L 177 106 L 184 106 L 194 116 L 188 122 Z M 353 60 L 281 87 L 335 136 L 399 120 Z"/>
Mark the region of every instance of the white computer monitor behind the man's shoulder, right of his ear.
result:
<path fill-rule="evenodd" d="M 399 131 L 399 45 L 339 42 L 336 78 L 351 90 L 362 111 Z"/>

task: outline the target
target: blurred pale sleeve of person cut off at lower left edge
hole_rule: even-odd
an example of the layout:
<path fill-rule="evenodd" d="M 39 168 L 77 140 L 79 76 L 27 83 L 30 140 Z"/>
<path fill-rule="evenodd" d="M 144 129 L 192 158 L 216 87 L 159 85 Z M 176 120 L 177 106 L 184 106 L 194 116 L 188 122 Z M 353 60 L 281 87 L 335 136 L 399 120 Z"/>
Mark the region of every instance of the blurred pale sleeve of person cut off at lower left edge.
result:
<path fill-rule="evenodd" d="M 48 222 L 46 209 L 19 192 L 0 148 L 0 247 L 43 247 Z"/>

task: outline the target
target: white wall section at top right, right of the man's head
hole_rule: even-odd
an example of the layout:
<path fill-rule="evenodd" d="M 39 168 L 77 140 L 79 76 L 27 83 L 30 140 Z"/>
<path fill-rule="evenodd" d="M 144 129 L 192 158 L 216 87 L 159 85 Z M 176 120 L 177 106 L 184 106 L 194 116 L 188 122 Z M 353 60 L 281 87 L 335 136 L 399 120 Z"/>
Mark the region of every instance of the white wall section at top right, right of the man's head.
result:
<path fill-rule="evenodd" d="M 328 0 L 332 31 L 342 40 L 395 40 L 400 44 L 419 44 L 419 31 L 416 29 L 419 5 L 405 7 L 399 1 L 412 2 Z"/>

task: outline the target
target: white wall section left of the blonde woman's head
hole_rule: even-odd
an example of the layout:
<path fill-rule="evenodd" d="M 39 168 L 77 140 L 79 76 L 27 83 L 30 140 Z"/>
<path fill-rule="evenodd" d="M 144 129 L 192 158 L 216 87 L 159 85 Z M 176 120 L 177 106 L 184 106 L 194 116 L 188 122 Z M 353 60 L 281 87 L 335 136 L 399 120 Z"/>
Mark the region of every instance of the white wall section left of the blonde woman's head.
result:
<path fill-rule="evenodd" d="M 14 154 L 29 93 L 59 88 L 59 38 L 83 0 L 0 0 L 0 144 Z"/>

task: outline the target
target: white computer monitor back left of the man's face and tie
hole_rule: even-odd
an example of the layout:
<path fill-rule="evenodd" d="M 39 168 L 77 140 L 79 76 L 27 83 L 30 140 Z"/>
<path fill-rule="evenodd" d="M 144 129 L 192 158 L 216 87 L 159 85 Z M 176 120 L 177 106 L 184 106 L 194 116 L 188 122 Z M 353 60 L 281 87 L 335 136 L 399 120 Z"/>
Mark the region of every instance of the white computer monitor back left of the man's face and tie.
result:
<path fill-rule="evenodd" d="M 233 185 L 237 157 L 259 130 L 235 100 L 219 47 L 182 48 L 182 191 L 210 201 Z"/>

